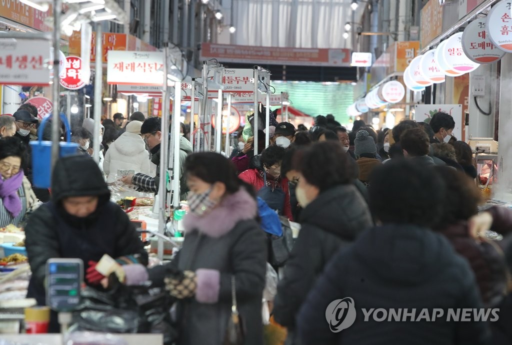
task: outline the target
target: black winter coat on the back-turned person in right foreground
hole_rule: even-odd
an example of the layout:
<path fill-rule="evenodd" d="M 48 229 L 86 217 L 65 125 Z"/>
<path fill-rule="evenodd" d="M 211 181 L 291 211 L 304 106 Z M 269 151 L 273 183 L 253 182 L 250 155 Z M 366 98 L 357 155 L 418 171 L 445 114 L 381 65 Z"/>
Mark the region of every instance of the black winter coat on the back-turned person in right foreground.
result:
<path fill-rule="evenodd" d="M 333 333 L 326 309 L 345 297 L 353 298 L 355 322 Z M 483 345 L 489 337 L 486 324 L 446 321 L 449 308 L 482 306 L 470 265 L 444 236 L 414 225 L 389 224 L 369 229 L 333 257 L 299 312 L 297 328 L 304 345 Z M 440 308 L 444 316 L 412 323 L 411 316 L 377 322 L 372 315 L 365 321 L 362 308 L 416 308 L 415 318 L 423 308 L 430 315 Z"/>

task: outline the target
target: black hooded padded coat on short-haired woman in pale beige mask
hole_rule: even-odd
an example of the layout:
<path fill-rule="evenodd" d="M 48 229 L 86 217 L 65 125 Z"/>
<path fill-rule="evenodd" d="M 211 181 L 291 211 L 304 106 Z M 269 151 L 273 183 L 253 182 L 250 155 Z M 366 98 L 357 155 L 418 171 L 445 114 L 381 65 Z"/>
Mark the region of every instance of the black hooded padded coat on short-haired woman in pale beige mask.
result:
<path fill-rule="evenodd" d="M 302 211 L 300 223 L 273 309 L 274 319 L 289 329 L 325 265 L 340 247 L 372 226 L 372 218 L 356 187 L 342 185 L 319 194 Z"/>

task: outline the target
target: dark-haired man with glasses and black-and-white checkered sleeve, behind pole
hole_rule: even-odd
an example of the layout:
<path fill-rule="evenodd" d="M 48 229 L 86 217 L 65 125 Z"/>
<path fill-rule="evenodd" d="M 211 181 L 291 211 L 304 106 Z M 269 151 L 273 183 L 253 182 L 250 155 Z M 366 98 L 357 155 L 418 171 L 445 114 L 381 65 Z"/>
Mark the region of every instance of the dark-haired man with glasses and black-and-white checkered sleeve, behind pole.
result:
<path fill-rule="evenodd" d="M 140 134 L 142 139 L 147 144 L 151 153 L 151 162 L 157 166 L 157 173 L 155 177 L 145 174 L 137 173 L 130 174 L 123 178 L 121 181 L 125 185 L 134 185 L 138 187 L 141 192 L 158 192 L 158 185 L 160 182 L 160 143 L 162 141 L 161 132 L 161 119 L 160 118 L 147 118 L 140 127 Z"/>

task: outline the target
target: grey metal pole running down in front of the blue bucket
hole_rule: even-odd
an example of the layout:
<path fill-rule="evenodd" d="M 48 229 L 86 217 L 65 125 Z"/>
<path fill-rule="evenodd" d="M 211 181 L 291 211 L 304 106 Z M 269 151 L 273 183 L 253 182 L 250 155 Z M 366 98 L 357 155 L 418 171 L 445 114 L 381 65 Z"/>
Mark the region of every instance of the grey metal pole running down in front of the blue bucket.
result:
<path fill-rule="evenodd" d="M 53 84 L 52 84 L 52 174 L 53 167 L 59 158 L 59 50 L 60 50 L 60 11 L 62 1 L 55 0 L 53 3 Z M 25 34 L 26 35 L 26 34 Z"/>

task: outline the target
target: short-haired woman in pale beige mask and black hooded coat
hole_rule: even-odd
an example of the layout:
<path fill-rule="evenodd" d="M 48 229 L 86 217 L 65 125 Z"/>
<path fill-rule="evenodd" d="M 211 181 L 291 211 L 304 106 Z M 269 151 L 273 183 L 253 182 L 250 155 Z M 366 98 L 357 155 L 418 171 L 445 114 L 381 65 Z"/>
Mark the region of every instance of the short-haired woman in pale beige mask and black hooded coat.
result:
<path fill-rule="evenodd" d="M 274 300 L 275 320 L 295 339 L 295 316 L 316 277 L 347 242 L 372 225 L 365 200 L 353 185 L 355 162 L 339 143 L 314 144 L 293 159 L 298 170 L 296 195 L 304 208 L 301 232 L 293 246 Z"/>

